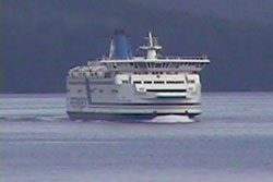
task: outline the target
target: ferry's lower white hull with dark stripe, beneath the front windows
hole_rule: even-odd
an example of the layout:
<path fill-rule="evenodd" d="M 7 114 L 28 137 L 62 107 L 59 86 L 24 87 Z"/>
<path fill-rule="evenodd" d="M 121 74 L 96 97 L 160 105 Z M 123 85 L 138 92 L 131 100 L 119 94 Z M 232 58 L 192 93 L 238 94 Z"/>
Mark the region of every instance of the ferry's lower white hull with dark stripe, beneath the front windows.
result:
<path fill-rule="evenodd" d="M 75 81 L 69 80 L 69 82 Z M 138 92 L 135 85 L 86 85 L 83 80 L 78 80 L 78 83 L 81 84 L 68 83 L 67 108 L 69 116 L 73 116 L 72 119 L 104 119 L 104 116 L 119 119 L 134 117 L 153 119 L 165 114 L 197 116 L 201 113 L 200 90 L 195 90 L 194 94 L 187 92 L 147 93 Z M 198 87 L 200 88 L 200 85 Z M 185 86 L 176 88 L 182 89 Z M 114 94 L 112 90 L 116 93 Z M 90 95 L 87 95 L 88 92 Z"/>

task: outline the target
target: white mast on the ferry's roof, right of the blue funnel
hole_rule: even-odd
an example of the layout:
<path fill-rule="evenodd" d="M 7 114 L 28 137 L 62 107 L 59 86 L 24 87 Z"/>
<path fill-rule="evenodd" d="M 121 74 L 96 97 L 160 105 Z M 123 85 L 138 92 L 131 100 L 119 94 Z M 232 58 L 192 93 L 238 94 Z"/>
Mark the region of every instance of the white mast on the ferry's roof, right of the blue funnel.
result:
<path fill-rule="evenodd" d="M 149 32 L 149 37 L 145 38 L 149 39 L 149 44 L 141 46 L 140 49 L 147 52 L 146 59 L 156 59 L 156 51 L 161 50 L 162 46 L 158 45 L 157 38 L 153 37 L 151 32 Z"/>

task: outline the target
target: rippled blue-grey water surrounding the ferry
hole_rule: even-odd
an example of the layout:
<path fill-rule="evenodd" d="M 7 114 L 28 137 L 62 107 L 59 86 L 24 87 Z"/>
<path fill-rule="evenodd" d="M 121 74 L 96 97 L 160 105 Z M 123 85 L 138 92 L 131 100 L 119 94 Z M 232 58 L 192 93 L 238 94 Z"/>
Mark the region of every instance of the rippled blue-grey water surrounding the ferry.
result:
<path fill-rule="evenodd" d="M 271 182 L 273 93 L 203 95 L 182 124 L 70 121 L 64 95 L 1 95 L 2 182 Z"/>

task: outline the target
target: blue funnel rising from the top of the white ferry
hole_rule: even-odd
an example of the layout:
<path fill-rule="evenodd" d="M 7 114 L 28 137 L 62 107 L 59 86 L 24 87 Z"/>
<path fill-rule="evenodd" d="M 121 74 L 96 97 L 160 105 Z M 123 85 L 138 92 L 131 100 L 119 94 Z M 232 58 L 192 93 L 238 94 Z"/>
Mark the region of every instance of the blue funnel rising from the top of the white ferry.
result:
<path fill-rule="evenodd" d="M 131 59 L 132 50 L 123 29 L 116 29 L 115 37 L 110 46 L 110 58 Z"/>

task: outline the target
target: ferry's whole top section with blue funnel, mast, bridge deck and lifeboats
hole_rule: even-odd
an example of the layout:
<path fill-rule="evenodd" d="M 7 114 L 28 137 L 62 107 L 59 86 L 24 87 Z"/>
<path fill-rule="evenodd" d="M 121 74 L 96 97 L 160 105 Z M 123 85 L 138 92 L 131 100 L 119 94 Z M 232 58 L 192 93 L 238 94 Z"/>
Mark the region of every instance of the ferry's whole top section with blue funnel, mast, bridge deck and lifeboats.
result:
<path fill-rule="evenodd" d="M 70 75 L 102 77 L 116 73 L 166 73 L 177 74 L 178 72 L 198 73 L 204 65 L 210 63 L 207 56 L 201 57 L 163 57 L 157 53 L 162 49 L 152 33 L 149 33 L 149 44 L 140 47 L 146 54 L 133 57 L 129 43 L 123 32 L 117 32 L 110 45 L 108 57 L 90 61 L 87 65 L 76 66 L 70 70 Z"/>

